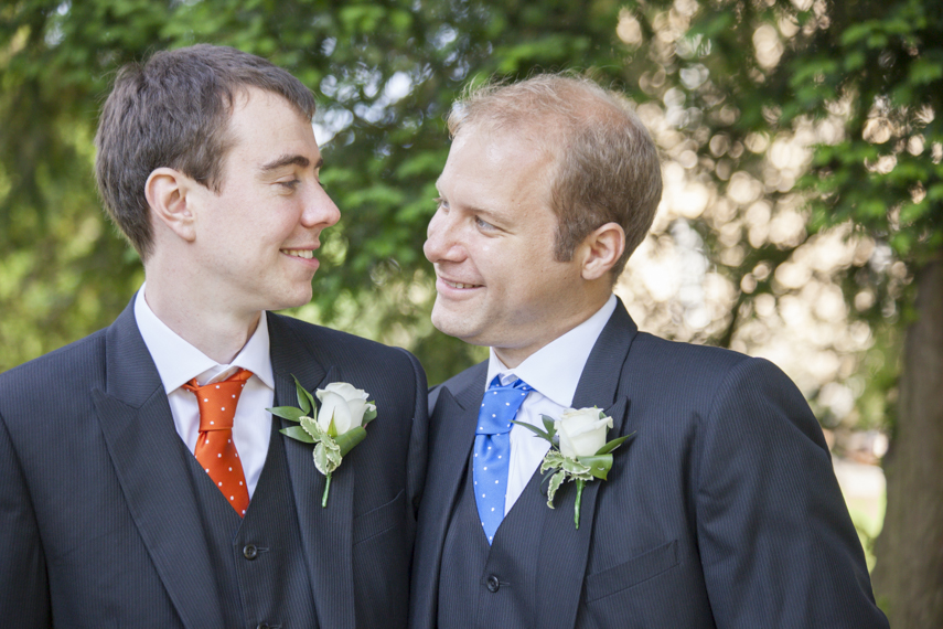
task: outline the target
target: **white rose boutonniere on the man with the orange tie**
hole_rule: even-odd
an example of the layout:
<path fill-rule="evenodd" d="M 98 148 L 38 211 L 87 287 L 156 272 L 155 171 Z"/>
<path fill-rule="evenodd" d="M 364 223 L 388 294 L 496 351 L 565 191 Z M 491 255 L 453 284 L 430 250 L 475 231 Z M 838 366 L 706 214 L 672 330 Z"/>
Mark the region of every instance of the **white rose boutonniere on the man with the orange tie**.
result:
<path fill-rule="evenodd" d="M 294 376 L 291 376 L 294 377 Z M 344 456 L 366 437 L 364 426 L 376 417 L 376 405 L 367 402 L 369 394 L 346 382 L 332 382 L 314 392 L 321 401 L 321 409 L 314 414 L 318 405 L 298 379 L 294 379 L 298 392 L 298 406 L 276 406 L 267 411 L 299 426 L 282 428 L 286 437 L 314 444 L 314 467 L 326 477 L 321 507 L 328 505 L 328 492 L 331 490 L 331 475 L 341 467 Z"/>

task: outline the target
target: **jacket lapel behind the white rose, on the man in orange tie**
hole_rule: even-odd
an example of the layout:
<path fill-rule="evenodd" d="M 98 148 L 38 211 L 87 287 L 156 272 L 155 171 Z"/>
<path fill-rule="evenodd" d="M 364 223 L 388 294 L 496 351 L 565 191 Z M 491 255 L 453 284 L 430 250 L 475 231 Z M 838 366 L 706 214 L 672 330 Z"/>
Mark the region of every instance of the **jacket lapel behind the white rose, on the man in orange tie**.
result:
<path fill-rule="evenodd" d="M 269 314 L 268 321 L 276 406 L 298 406 L 292 375 L 311 393 L 342 379 L 339 370 L 306 351 L 307 345 L 278 317 Z M 281 428 L 296 425 L 274 419 L 281 423 Z M 328 507 L 322 509 L 326 479 L 314 467 L 312 446 L 285 438 L 285 451 L 319 625 L 354 629 L 354 607 L 347 601 L 354 590 L 352 531 L 356 470 L 342 463 L 332 475 Z"/>

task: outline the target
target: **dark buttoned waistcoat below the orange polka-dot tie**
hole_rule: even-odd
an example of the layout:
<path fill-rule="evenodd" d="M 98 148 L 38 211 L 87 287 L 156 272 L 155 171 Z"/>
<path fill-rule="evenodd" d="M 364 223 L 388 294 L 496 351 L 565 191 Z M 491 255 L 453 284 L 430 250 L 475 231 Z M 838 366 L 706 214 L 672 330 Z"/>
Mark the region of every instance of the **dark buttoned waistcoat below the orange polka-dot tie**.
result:
<path fill-rule="evenodd" d="M 223 596 L 223 600 L 207 604 L 223 607 L 227 628 L 317 628 L 283 437 L 275 425 L 245 518 L 229 507 L 195 458 L 190 468 L 206 546 L 216 566 L 217 590 Z"/>

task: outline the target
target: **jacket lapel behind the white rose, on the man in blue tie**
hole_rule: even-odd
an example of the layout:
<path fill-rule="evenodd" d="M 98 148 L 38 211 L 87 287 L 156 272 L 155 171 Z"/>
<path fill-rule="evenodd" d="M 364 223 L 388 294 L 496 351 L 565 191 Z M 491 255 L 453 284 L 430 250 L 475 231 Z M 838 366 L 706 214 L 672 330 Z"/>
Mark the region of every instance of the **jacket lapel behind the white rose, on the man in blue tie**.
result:
<path fill-rule="evenodd" d="M 630 401 L 620 391 L 620 383 L 622 365 L 636 332 L 635 323 L 619 301 L 589 354 L 574 395 L 574 408 L 598 406 L 612 417 L 609 439 L 622 435 L 629 414 Z M 618 452 L 621 454 L 629 445 L 631 440 Z M 576 486 L 567 483 L 566 489 L 557 494 L 556 509 L 546 519 L 537 569 L 537 596 L 553 604 L 540 606 L 538 627 L 569 629 L 576 625 L 589 558 L 596 501 L 600 491 L 604 497 L 604 483 L 593 480 L 586 484 L 580 504 L 579 530 L 574 523 Z"/>

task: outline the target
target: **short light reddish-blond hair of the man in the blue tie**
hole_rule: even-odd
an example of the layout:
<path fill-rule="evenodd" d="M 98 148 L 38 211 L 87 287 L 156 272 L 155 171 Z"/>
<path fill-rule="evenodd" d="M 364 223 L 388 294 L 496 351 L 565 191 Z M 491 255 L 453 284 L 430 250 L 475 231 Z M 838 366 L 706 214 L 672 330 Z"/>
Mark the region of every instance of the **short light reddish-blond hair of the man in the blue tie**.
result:
<path fill-rule="evenodd" d="M 470 87 L 452 107 L 452 137 L 468 126 L 529 131 L 556 153 L 550 184 L 557 215 L 554 255 L 568 262 L 590 232 L 618 223 L 625 231 L 625 252 L 613 267 L 614 281 L 645 238 L 662 198 L 657 148 L 628 100 L 568 74 L 490 82 Z M 559 149 L 550 150 L 550 142 Z"/>

